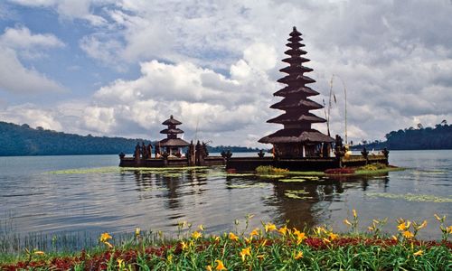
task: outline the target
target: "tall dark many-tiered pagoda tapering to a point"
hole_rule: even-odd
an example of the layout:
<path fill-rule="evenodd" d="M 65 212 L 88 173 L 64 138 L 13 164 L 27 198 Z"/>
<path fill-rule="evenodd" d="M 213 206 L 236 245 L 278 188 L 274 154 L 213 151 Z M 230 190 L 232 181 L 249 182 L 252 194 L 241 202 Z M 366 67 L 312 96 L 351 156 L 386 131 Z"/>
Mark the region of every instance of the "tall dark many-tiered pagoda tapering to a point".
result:
<path fill-rule="evenodd" d="M 304 47 L 305 44 L 300 43 L 303 39 L 296 27 L 287 41 L 289 49 L 284 53 L 289 57 L 282 61 L 287 62 L 289 66 L 279 70 L 287 73 L 287 76 L 278 79 L 279 83 L 287 86 L 273 94 L 283 99 L 270 107 L 284 110 L 285 113 L 267 121 L 282 124 L 284 127 L 276 133 L 262 137 L 259 143 L 272 144 L 274 153 L 281 158 L 327 157 L 334 139 L 311 127 L 313 123 L 324 123 L 326 120 L 309 112 L 323 106 L 308 98 L 319 93 L 306 86 L 315 80 L 305 75 L 312 69 L 303 66 L 303 63 L 309 60 L 302 57 L 306 51 L 300 47 Z"/>

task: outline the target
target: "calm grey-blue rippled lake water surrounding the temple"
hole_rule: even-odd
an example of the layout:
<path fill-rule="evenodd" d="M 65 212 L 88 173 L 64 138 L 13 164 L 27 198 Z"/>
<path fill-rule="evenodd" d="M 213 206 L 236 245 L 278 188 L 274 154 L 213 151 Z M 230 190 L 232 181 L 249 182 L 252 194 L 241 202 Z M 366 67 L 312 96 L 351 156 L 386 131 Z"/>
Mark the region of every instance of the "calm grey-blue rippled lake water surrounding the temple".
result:
<path fill-rule="evenodd" d="M 407 167 L 382 176 L 276 182 L 227 175 L 223 167 L 122 171 L 118 155 L 0 157 L 0 235 L 132 232 L 172 234 L 180 221 L 203 224 L 208 233 L 235 229 L 234 220 L 260 220 L 303 228 L 342 222 L 358 211 L 361 228 L 372 219 L 428 220 L 421 238 L 440 238 L 434 213 L 452 217 L 451 151 L 392 151 L 391 164 Z M 234 154 L 238 155 L 238 154 Z M 256 155 L 256 154 L 252 154 Z M 285 177 L 287 179 L 287 177 Z M 303 199 L 287 197 L 302 192 Z M 418 196 L 414 196 L 418 195 Z"/>

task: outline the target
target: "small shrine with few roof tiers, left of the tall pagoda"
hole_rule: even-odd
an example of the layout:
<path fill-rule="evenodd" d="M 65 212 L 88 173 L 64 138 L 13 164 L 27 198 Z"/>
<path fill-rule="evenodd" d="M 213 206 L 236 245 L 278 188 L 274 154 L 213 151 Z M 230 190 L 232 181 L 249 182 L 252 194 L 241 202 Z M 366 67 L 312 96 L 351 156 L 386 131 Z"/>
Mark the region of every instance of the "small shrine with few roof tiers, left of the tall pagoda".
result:
<path fill-rule="evenodd" d="M 182 125 L 182 122 L 176 120 L 173 115 L 171 115 L 170 118 L 166 119 L 162 124 L 168 126 L 166 129 L 160 131 L 160 134 L 165 134 L 166 138 L 160 140 L 158 145 L 155 145 L 155 153 L 160 154 L 163 148 L 163 152 L 166 152 L 166 154 L 181 157 L 181 148 L 190 145 L 190 143 L 184 141 L 184 139 L 177 137 L 179 134 L 184 134 L 184 131 L 177 127 Z"/>

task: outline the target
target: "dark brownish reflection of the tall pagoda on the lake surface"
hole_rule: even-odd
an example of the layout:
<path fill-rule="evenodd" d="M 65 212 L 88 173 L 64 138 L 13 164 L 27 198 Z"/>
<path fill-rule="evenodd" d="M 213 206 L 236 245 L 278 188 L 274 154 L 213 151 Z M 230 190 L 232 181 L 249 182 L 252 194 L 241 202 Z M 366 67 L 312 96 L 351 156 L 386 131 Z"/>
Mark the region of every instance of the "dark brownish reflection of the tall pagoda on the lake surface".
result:
<path fill-rule="evenodd" d="M 383 185 L 383 190 L 388 188 L 389 177 L 385 175 L 375 177 L 325 177 L 321 181 L 314 182 L 275 182 L 274 201 L 264 202 L 267 205 L 276 206 L 280 211 L 275 222 L 284 224 L 288 220 L 287 227 L 313 227 L 329 219 L 329 207 L 334 201 L 342 201 L 342 194 L 349 189 L 366 191 L 369 182 Z M 287 197 L 287 192 L 300 192 L 297 195 L 304 199 L 292 199 Z"/>

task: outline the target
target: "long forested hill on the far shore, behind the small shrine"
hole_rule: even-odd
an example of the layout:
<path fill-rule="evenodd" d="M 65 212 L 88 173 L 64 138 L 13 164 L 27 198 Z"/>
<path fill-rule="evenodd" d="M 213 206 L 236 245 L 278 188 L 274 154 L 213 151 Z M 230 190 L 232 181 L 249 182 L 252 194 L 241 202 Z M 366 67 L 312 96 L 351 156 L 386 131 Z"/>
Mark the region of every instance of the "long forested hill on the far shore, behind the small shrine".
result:
<path fill-rule="evenodd" d="M 26 124 L 18 126 L 0 121 L 0 156 L 131 154 L 137 142 L 149 144 L 148 140 L 143 139 L 65 134 L 42 127 L 33 129 Z M 220 153 L 227 149 L 232 152 L 258 151 L 240 146 L 209 146 L 208 149 L 210 153 Z"/>

